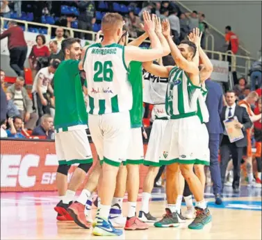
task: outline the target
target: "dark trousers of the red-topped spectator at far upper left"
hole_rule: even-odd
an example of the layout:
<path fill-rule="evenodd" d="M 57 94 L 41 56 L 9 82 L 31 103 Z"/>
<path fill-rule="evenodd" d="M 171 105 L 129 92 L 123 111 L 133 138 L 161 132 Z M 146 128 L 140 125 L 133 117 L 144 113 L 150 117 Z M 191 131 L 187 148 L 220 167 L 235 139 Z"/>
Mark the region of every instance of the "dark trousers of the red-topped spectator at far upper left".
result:
<path fill-rule="evenodd" d="M 24 77 L 24 62 L 26 60 L 27 46 L 19 46 L 9 49 L 10 67 L 15 71 L 17 76 Z"/>

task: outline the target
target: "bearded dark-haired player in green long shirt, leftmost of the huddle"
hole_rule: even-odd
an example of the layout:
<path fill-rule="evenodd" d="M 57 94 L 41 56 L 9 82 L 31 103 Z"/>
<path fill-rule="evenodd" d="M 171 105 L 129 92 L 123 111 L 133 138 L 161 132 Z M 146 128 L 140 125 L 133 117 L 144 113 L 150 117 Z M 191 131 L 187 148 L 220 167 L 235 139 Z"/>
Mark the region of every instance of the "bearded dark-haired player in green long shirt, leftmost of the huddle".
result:
<path fill-rule="evenodd" d="M 80 40 L 63 40 L 62 51 L 65 60 L 60 63 L 54 76 L 54 126 L 56 155 L 59 161 L 56 185 L 60 196 L 55 210 L 58 212 L 57 219 L 66 221 L 72 220 L 66 209 L 92 166 L 92 152 L 85 132 L 88 119 L 79 75 Z M 67 189 L 67 174 L 72 164 L 79 166 L 74 171 Z"/>

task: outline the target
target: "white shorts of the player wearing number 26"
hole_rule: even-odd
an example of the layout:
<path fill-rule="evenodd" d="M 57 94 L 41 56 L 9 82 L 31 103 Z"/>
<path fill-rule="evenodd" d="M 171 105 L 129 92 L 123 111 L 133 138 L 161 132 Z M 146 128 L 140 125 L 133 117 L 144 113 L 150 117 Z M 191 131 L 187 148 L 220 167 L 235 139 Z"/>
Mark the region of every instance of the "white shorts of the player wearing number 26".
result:
<path fill-rule="evenodd" d="M 101 163 L 120 166 L 127 158 L 131 133 L 129 112 L 89 114 L 88 126 Z"/>

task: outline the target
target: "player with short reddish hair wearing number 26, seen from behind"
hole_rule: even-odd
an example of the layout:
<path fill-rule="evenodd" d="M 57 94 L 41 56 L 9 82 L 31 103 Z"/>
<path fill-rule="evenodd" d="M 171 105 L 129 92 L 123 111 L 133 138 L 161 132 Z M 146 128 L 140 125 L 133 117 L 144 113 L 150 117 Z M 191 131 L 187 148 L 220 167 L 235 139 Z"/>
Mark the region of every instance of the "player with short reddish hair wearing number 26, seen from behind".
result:
<path fill-rule="evenodd" d="M 101 22 L 104 40 L 85 49 L 85 57 L 81 61 L 88 81 L 90 133 L 103 163 L 98 185 L 101 204 L 92 231 L 99 236 L 122 234 L 122 230 L 113 228 L 108 216 L 117 172 L 122 161 L 126 160 L 129 146 L 126 139 L 129 139 L 131 132 L 129 110 L 132 107 L 132 92 L 127 79 L 129 62 L 154 60 L 164 54 L 154 32 L 154 15 L 152 20 L 149 12 L 144 12 L 143 17 L 152 49 L 115 44 L 122 36 L 123 19 L 117 13 L 107 13 Z"/>

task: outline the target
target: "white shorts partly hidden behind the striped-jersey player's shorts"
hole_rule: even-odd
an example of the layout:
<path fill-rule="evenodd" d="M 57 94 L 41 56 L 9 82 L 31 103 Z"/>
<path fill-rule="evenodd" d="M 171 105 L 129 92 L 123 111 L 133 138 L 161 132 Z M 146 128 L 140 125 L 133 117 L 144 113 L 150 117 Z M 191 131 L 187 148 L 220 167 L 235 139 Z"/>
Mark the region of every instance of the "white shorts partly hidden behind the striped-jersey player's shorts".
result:
<path fill-rule="evenodd" d="M 161 156 L 161 142 L 167 126 L 168 120 L 154 120 L 152 130 L 147 144 L 147 153 L 145 155 L 145 165 L 161 166 L 159 157 Z"/>

